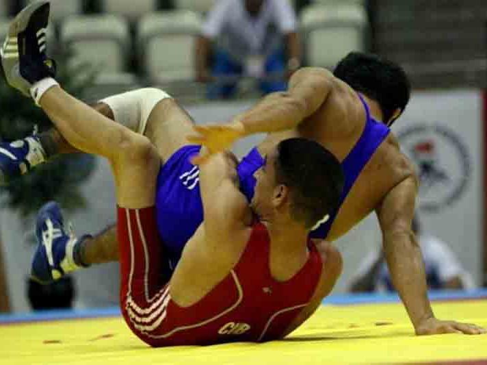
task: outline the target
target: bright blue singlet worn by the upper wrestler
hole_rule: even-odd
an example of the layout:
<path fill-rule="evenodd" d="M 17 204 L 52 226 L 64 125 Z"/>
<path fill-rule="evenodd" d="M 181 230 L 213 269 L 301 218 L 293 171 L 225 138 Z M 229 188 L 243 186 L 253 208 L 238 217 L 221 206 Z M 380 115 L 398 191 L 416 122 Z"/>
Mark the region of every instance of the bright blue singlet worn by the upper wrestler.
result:
<path fill-rule="evenodd" d="M 359 95 L 360 96 L 360 95 Z M 367 121 L 358 142 L 341 163 L 345 173 L 345 186 L 337 210 L 330 214 L 330 219 L 311 232 L 313 238 L 326 238 L 337 217 L 339 208 L 354 186 L 367 162 L 389 134 L 390 129 L 383 123 L 371 118 L 367 103 L 360 97 L 367 114 Z M 186 146 L 164 164 L 157 179 L 157 225 L 159 234 L 170 257 L 170 266 L 174 268 L 181 257 L 183 248 L 203 220 L 203 207 L 199 189 L 199 170 L 189 162 L 200 151 L 200 146 Z M 263 165 L 263 157 L 254 148 L 237 166 L 240 190 L 248 201 L 254 196 L 256 180 L 254 173 Z"/>

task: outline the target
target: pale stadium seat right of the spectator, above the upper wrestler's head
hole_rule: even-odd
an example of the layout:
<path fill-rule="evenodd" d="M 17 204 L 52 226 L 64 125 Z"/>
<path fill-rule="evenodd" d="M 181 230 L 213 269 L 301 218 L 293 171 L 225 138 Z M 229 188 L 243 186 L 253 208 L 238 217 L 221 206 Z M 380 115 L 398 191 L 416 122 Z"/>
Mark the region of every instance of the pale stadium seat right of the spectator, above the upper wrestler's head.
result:
<path fill-rule="evenodd" d="M 300 23 L 310 66 L 331 68 L 350 51 L 365 49 L 367 14 L 361 5 L 311 5 Z"/>

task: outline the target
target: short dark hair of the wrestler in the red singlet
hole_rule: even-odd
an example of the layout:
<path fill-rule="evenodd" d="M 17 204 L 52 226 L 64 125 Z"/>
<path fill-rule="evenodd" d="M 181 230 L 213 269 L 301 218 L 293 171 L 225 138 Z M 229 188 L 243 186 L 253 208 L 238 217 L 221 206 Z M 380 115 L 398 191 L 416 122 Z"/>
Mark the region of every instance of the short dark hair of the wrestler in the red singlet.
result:
<path fill-rule="evenodd" d="M 311 229 L 338 207 L 343 171 L 327 149 L 305 138 L 282 140 L 277 147 L 276 182 L 290 190 L 291 217 Z"/>

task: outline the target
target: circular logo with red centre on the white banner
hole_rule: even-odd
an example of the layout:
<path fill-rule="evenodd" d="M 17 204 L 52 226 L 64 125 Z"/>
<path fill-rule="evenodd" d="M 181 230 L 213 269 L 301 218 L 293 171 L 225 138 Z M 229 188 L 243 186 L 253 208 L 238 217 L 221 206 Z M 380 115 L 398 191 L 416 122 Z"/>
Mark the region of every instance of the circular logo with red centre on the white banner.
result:
<path fill-rule="evenodd" d="M 421 210 L 438 212 L 462 197 L 471 177 L 471 159 L 455 131 L 445 125 L 420 124 L 400 131 L 397 137 L 417 167 Z"/>

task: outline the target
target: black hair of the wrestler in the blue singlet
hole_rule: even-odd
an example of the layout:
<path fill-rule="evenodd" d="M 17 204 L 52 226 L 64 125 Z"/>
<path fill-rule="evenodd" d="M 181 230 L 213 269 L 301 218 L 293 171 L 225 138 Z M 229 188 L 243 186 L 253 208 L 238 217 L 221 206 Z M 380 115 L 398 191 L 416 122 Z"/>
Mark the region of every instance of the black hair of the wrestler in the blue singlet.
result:
<path fill-rule="evenodd" d="M 350 52 L 333 71 L 354 90 L 377 101 L 384 123 L 393 123 L 396 109 L 406 109 L 411 94 L 408 75 L 401 66 L 372 53 Z"/>

